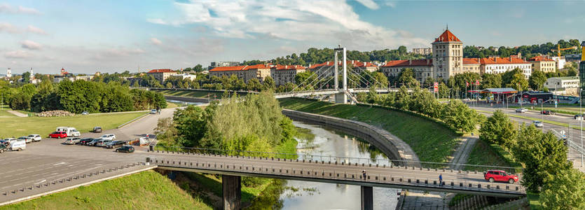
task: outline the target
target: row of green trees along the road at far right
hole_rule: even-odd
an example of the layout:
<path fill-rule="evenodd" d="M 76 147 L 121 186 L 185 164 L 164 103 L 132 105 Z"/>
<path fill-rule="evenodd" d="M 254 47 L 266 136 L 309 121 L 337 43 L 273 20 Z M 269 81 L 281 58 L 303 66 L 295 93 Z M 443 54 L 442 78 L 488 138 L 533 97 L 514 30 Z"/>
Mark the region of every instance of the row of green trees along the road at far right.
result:
<path fill-rule="evenodd" d="M 479 138 L 511 153 L 525 169 L 521 183 L 546 209 L 585 209 L 585 174 L 567 160 L 567 142 L 534 125 L 517 125 L 495 111 L 480 129 Z"/>

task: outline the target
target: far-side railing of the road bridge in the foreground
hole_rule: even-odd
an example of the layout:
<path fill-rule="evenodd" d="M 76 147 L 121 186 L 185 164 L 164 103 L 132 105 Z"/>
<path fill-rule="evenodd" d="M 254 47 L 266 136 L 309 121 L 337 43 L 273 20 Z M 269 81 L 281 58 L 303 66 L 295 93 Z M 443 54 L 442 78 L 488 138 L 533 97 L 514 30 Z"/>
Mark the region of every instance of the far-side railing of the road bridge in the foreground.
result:
<path fill-rule="evenodd" d="M 308 162 L 331 162 L 344 165 L 374 165 L 379 167 L 420 167 L 425 165 L 429 169 L 449 169 L 454 167 L 455 164 L 451 162 L 425 162 L 425 161 L 411 161 L 411 160 L 391 160 L 383 158 L 353 158 L 353 157 L 342 157 L 334 155 L 314 155 L 314 154 L 303 154 L 303 153 L 273 153 L 273 152 L 261 152 L 261 151 L 230 151 L 212 148 L 188 148 L 188 147 L 177 147 L 177 146 L 154 146 L 154 151 L 174 151 L 179 153 L 189 154 L 202 154 L 202 155 L 238 155 L 245 157 L 262 157 L 262 158 L 286 158 L 293 160 L 305 160 Z M 474 172 L 486 172 L 487 170 L 502 170 L 511 174 L 520 175 L 523 168 L 517 167 L 501 167 L 491 165 L 467 165 L 458 164 L 461 168 L 473 170 Z"/>

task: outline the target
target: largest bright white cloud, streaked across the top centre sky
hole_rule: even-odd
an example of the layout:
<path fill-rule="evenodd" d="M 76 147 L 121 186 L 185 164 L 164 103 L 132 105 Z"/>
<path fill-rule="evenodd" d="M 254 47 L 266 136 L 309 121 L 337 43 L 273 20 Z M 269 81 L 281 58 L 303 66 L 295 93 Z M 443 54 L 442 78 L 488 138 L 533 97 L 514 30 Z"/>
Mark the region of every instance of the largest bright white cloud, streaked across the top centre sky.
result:
<path fill-rule="evenodd" d="M 360 2 L 367 4 L 368 1 Z M 317 41 L 326 45 L 342 44 L 355 50 L 429 43 L 424 38 L 404 36 L 404 32 L 359 20 L 359 15 L 345 0 L 221 0 L 174 4 L 181 11 L 182 18 L 147 21 L 174 26 L 203 25 L 227 38 Z"/>

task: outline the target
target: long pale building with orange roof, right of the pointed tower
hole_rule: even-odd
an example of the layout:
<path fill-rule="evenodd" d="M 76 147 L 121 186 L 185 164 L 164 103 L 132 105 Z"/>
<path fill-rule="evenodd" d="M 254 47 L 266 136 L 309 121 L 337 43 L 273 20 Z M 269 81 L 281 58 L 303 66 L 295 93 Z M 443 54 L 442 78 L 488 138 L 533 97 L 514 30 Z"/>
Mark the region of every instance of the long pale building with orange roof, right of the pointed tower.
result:
<path fill-rule="evenodd" d="M 532 64 L 519 58 L 518 56 L 510 57 L 485 57 L 480 59 L 481 73 L 504 73 L 512 69 L 520 69 L 524 77 L 528 79 L 532 73 Z"/>

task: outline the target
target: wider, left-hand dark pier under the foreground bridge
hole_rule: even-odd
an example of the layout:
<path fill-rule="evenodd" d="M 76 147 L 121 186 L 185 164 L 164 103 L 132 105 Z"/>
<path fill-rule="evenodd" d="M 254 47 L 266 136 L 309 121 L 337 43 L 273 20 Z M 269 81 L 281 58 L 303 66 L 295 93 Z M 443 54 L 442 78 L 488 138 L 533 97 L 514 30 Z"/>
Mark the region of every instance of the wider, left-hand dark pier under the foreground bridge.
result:
<path fill-rule="evenodd" d="M 240 201 L 242 200 L 242 177 L 222 175 L 221 185 L 223 186 L 223 209 L 242 209 L 240 206 Z"/>

